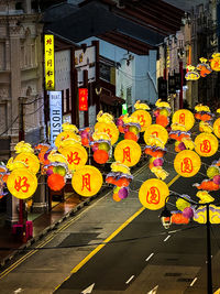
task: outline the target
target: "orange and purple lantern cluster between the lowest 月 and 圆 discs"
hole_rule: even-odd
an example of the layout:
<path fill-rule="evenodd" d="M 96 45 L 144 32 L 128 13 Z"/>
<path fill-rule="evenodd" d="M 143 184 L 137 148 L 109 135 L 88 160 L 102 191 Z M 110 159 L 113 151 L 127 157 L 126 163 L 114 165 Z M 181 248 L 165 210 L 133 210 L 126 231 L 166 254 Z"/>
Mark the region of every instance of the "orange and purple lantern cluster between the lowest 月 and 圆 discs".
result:
<path fill-rule="evenodd" d="M 120 162 L 111 164 L 111 173 L 106 177 L 108 184 L 114 185 L 113 199 L 120 202 L 129 196 L 129 184 L 133 179 L 130 168 Z"/>

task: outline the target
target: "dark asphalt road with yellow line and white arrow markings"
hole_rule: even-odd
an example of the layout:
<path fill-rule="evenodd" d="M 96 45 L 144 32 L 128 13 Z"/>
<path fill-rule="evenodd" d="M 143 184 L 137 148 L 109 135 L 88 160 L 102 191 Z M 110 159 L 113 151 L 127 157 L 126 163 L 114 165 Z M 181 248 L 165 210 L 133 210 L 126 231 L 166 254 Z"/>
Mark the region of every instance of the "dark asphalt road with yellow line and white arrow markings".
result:
<path fill-rule="evenodd" d="M 176 176 L 174 156 L 166 156 L 164 167 L 170 172 L 167 183 Z M 194 196 L 197 189 L 191 185 L 200 183 L 205 172 L 206 165 L 194 178 L 179 177 L 169 189 Z M 143 209 L 138 198 L 139 187 L 150 177 L 154 175 L 143 167 L 127 199 L 116 203 L 110 193 L 34 244 L 38 250 L 22 254 L 0 273 L 0 293 L 147 294 L 154 287 L 163 294 L 207 293 L 206 228 L 191 222 L 166 231 L 158 218 L 161 211 Z M 132 216 L 133 220 L 128 221 Z M 103 246 L 103 240 L 114 232 L 116 237 Z M 217 290 L 219 226 L 213 226 L 213 232 L 212 276 Z"/>

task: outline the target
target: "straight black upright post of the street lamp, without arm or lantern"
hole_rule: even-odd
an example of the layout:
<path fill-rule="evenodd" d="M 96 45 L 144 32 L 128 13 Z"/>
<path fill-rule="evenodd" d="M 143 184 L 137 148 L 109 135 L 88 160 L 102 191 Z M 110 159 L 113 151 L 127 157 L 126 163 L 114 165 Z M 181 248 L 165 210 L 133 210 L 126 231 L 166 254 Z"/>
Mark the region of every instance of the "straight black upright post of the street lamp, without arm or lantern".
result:
<path fill-rule="evenodd" d="M 207 293 L 212 294 L 212 275 L 211 275 L 211 236 L 210 236 L 210 219 L 209 204 L 206 204 L 207 209 Z"/>

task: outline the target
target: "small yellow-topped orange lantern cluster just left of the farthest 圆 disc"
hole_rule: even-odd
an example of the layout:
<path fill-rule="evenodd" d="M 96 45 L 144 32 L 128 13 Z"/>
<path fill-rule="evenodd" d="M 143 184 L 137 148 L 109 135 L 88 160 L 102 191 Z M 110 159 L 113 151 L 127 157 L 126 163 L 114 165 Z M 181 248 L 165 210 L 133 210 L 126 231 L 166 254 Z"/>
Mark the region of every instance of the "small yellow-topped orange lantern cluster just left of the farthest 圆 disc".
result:
<path fill-rule="evenodd" d="M 154 111 L 154 116 L 156 117 L 156 123 L 166 128 L 169 123 L 170 106 L 161 99 L 156 101 L 155 106 L 156 110 Z"/>

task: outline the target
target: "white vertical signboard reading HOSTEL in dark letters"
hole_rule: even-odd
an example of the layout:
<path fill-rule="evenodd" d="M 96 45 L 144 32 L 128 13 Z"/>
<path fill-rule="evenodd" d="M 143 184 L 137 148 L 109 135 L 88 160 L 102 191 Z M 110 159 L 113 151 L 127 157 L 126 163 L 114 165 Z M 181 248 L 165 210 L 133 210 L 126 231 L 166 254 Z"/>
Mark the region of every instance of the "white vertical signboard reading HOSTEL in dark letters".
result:
<path fill-rule="evenodd" d="M 51 143 L 62 132 L 62 91 L 50 91 Z"/>

